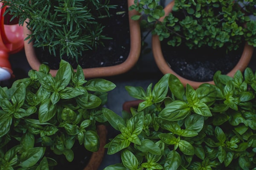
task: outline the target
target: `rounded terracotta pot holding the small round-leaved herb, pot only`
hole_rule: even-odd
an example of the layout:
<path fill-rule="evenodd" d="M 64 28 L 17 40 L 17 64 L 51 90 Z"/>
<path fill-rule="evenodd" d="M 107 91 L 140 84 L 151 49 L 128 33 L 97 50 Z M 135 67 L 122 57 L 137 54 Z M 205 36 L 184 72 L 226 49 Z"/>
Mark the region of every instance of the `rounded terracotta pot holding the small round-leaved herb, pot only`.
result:
<path fill-rule="evenodd" d="M 174 1 L 169 3 L 164 8 L 165 16 L 167 16 L 170 12 L 172 12 L 173 6 L 174 6 Z M 163 21 L 164 17 L 160 18 L 160 21 Z M 169 64 L 166 62 L 166 60 L 163 57 L 163 53 L 162 53 L 161 45 L 160 45 L 160 40 L 159 40 L 159 37 L 157 35 L 152 36 L 152 51 L 153 51 L 155 62 L 157 64 L 158 68 L 160 69 L 160 71 L 163 74 L 167 74 L 167 73 L 174 74 L 176 77 L 178 77 L 178 79 L 180 79 L 180 82 L 184 85 L 184 87 L 186 87 L 186 84 L 189 84 L 193 88 L 196 89 L 203 83 L 214 84 L 213 81 L 195 82 L 195 81 L 192 81 L 192 80 L 189 80 L 189 79 L 185 79 L 185 78 L 181 77 L 180 75 L 178 75 L 177 73 L 175 73 L 170 68 Z M 234 74 L 236 73 L 236 71 L 238 71 L 238 70 L 244 71 L 244 69 L 249 64 L 252 55 L 253 55 L 253 46 L 250 46 L 247 43 L 245 43 L 244 50 L 243 50 L 243 53 L 241 55 L 241 58 L 239 59 L 239 62 L 236 64 L 236 66 L 227 75 L 230 76 L 230 77 L 233 77 Z"/>

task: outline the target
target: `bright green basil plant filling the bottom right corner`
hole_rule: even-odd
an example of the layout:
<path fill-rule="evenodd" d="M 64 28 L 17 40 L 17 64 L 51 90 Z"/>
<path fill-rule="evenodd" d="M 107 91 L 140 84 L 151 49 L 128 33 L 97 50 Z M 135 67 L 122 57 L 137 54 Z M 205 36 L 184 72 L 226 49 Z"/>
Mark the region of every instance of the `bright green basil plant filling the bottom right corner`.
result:
<path fill-rule="evenodd" d="M 256 74 L 216 72 L 215 85 L 186 88 L 172 74 L 154 87 L 126 86 L 143 102 L 103 114 L 120 133 L 105 146 L 122 163 L 105 170 L 256 170 Z"/>

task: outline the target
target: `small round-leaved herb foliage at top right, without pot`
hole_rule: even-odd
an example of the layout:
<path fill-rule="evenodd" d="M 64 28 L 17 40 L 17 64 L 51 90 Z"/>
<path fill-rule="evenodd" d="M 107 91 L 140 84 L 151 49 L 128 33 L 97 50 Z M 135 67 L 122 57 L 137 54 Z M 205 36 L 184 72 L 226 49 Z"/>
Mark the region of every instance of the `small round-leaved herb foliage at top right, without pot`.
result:
<path fill-rule="evenodd" d="M 172 12 L 162 22 L 159 19 L 165 11 L 159 0 L 134 2 L 130 10 L 141 15 L 134 15 L 133 19 L 145 14 L 152 34 L 161 41 L 168 38 L 169 45 L 184 43 L 190 49 L 210 46 L 231 51 L 247 41 L 256 47 L 256 21 L 250 19 L 256 16 L 255 0 L 175 0 Z"/>

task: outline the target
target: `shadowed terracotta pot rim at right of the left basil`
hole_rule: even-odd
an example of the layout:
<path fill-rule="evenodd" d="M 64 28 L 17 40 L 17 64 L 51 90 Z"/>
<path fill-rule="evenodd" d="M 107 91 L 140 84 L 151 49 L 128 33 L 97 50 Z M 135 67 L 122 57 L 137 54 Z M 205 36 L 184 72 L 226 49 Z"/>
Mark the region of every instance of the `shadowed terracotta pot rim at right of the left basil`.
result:
<path fill-rule="evenodd" d="M 99 135 L 99 150 L 92 153 L 91 158 L 83 170 L 98 170 L 105 153 L 105 144 L 107 141 L 107 128 L 104 125 L 97 126 L 97 133 Z"/>

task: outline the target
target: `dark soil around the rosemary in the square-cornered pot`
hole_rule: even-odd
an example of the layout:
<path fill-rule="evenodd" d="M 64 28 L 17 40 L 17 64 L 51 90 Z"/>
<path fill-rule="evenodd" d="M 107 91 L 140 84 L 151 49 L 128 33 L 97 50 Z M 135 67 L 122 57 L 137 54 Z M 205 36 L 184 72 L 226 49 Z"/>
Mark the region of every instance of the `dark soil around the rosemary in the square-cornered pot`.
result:
<path fill-rule="evenodd" d="M 109 9 L 111 17 L 99 19 L 99 22 L 105 25 L 102 34 L 111 37 L 112 40 L 102 40 L 104 46 L 99 45 L 96 50 L 83 51 L 78 63 L 75 59 L 70 60 L 62 56 L 62 59 L 68 61 L 73 68 L 76 68 L 78 64 L 82 68 L 118 65 L 127 59 L 130 52 L 127 0 L 111 0 L 110 4 L 118 6 Z M 49 54 L 48 49 L 36 48 L 36 55 L 41 63 L 49 65 L 51 69 L 59 68 L 60 57 Z"/>

